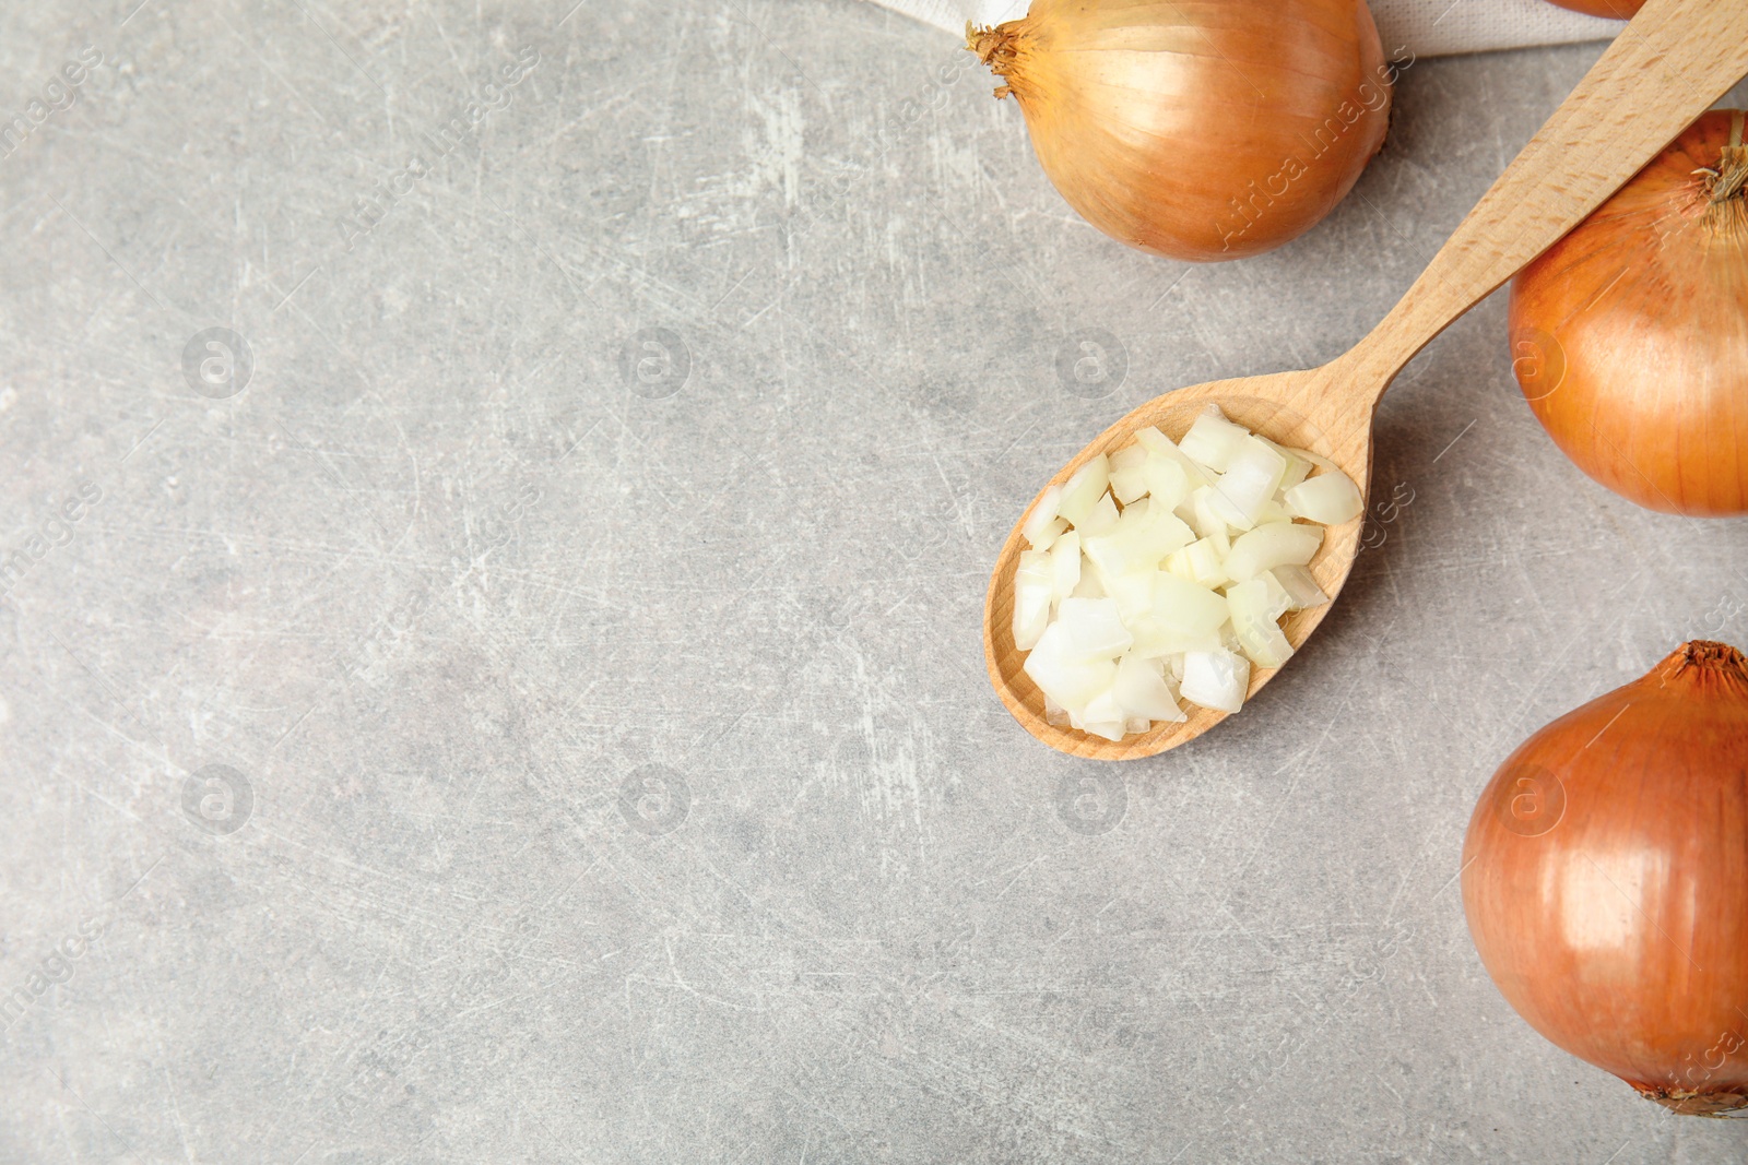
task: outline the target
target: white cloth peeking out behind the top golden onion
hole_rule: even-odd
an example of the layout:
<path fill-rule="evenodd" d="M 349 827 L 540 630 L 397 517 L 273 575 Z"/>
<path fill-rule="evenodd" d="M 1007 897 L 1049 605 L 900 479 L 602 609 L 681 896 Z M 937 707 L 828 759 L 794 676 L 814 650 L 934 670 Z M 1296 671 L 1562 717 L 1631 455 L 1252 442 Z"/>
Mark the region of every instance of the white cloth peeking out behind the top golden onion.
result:
<path fill-rule="evenodd" d="M 951 33 L 965 21 L 1000 24 L 1024 16 L 1030 0 L 874 0 Z M 1578 16 L 1549 0 L 1370 0 L 1384 52 L 1447 56 L 1536 44 L 1608 40 L 1622 24 Z"/>

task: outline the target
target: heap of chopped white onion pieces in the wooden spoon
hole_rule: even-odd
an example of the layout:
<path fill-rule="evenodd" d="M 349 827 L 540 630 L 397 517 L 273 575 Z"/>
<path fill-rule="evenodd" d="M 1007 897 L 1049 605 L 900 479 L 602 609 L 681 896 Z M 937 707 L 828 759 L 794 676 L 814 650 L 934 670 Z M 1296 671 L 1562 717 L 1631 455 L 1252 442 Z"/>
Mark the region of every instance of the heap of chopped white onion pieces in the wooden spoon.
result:
<path fill-rule="evenodd" d="M 1328 603 L 1308 569 L 1320 526 L 1362 508 L 1334 465 L 1217 405 L 1182 444 L 1148 426 L 1052 486 L 1014 580 L 1014 646 L 1047 720 L 1120 741 L 1185 720 L 1178 700 L 1239 711 L 1252 664 L 1294 653 L 1281 617 Z"/>

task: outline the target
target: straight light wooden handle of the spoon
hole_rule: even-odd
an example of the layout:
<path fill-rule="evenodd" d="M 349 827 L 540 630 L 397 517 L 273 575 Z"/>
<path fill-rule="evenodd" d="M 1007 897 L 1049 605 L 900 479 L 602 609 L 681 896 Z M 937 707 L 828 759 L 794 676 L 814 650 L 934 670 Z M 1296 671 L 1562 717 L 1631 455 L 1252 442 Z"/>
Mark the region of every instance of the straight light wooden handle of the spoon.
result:
<path fill-rule="evenodd" d="M 1748 73 L 1748 0 L 1650 0 L 1353 353 L 1390 379 Z M 1376 403 L 1376 400 L 1374 400 Z"/>

